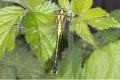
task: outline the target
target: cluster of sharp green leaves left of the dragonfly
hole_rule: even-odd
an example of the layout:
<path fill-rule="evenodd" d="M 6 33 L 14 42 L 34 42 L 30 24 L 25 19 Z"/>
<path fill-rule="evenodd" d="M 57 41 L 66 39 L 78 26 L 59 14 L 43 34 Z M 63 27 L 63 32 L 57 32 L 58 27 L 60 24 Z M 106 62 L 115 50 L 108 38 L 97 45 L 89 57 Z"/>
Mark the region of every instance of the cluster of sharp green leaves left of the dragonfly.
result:
<path fill-rule="evenodd" d="M 14 40 L 15 40 L 15 36 L 17 35 L 16 32 L 18 32 L 18 25 L 16 26 L 15 24 L 20 24 L 20 22 L 23 22 L 22 32 L 25 33 L 26 41 L 31 45 L 32 49 L 35 50 L 36 55 L 38 56 L 40 61 L 45 62 L 46 60 L 48 60 L 48 58 L 51 57 L 55 49 L 56 38 L 54 36 L 54 38 L 51 39 L 51 36 L 54 32 L 54 26 L 55 26 L 53 24 L 55 19 L 54 10 L 56 10 L 58 7 L 54 3 L 51 3 L 49 1 L 43 2 L 41 0 L 40 1 L 35 0 L 33 2 L 29 0 L 21 0 L 20 2 L 13 0 L 12 2 L 19 3 L 24 8 L 26 8 L 27 11 L 23 10 L 20 7 L 15 7 L 15 6 L 6 7 L 0 10 L 1 11 L 0 23 L 1 26 L 3 25 L 3 29 L 1 28 L 0 30 L 4 31 L 4 33 L 1 32 L 2 34 L 0 36 L 2 38 L 0 43 L 1 44 L 4 43 L 4 45 L 0 46 L 1 50 L 5 49 L 6 47 L 10 48 L 10 50 L 14 49 L 14 42 L 15 42 Z M 5 16 L 5 18 L 3 18 L 3 15 Z M 20 21 L 20 18 L 23 16 L 24 16 L 23 21 Z M 9 20 L 8 18 L 11 20 Z M 8 24 L 7 21 L 9 21 Z M 10 26 L 11 29 L 9 28 Z M 11 33 L 10 32 L 8 33 L 7 31 L 10 31 Z M 46 33 L 48 32 L 51 35 L 47 35 Z M 8 43 L 8 41 L 5 41 L 3 37 L 7 38 L 6 40 L 11 39 L 10 42 Z M 42 39 L 43 37 L 44 39 Z"/>

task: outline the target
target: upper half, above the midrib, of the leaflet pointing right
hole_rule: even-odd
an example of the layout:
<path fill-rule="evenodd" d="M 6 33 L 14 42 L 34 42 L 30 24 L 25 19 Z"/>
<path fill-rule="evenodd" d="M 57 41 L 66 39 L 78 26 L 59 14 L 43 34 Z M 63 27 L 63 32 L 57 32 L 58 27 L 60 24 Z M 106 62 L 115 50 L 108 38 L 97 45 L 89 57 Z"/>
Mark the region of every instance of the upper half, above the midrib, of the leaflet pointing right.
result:
<path fill-rule="evenodd" d="M 109 16 L 109 14 L 107 12 L 105 12 L 105 10 L 98 7 L 98 8 L 92 8 L 92 9 L 89 9 L 88 11 L 86 11 L 84 19 L 90 20 L 90 19 L 108 17 L 108 16 Z"/>

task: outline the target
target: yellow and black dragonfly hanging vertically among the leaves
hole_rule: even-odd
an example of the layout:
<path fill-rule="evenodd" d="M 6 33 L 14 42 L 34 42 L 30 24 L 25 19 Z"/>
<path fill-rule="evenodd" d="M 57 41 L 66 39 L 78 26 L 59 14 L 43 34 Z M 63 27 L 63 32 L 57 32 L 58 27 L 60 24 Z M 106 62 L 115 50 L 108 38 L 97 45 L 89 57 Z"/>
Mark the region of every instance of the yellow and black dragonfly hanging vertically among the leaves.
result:
<path fill-rule="evenodd" d="M 66 25 L 66 10 L 64 8 L 60 8 L 58 10 L 58 15 L 56 19 L 56 33 L 57 33 L 57 40 L 56 40 L 56 48 L 55 48 L 55 56 L 54 56 L 54 63 L 52 67 L 52 74 L 57 74 L 57 64 L 58 64 L 58 54 L 59 54 L 59 47 L 60 41 L 64 32 L 64 28 Z"/>

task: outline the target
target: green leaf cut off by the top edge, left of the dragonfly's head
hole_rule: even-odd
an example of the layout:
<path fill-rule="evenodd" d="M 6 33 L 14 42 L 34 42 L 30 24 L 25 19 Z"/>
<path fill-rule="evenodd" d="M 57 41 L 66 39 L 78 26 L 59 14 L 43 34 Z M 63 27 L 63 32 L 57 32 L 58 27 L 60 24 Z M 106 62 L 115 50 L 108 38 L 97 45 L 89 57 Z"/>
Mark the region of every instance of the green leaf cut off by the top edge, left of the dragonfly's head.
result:
<path fill-rule="evenodd" d="M 19 4 L 29 9 L 30 11 L 32 10 L 33 12 L 43 12 L 46 14 L 54 12 L 54 10 L 58 8 L 55 3 L 51 3 L 51 1 L 46 0 L 21 0 Z"/>

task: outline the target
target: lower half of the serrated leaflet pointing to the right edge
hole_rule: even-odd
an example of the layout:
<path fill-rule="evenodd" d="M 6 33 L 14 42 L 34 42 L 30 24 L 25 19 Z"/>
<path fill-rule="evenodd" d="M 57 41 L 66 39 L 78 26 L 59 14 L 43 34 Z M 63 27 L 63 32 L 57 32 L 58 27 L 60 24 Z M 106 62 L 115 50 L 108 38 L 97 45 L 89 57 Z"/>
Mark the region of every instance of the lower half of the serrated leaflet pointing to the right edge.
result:
<path fill-rule="evenodd" d="M 112 17 L 94 18 L 88 20 L 88 24 L 99 30 L 108 29 L 111 27 L 120 27 L 120 24 Z"/>

